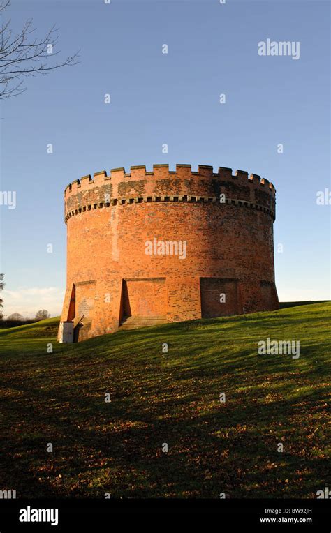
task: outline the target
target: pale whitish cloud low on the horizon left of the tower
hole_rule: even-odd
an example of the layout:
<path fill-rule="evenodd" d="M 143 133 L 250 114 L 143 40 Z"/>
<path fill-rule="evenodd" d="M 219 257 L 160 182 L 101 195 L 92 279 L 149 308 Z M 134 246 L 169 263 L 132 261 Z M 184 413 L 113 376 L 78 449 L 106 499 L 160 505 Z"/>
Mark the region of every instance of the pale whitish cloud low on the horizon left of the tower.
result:
<path fill-rule="evenodd" d="M 59 287 L 18 287 L 17 290 L 3 289 L 3 314 L 20 313 L 34 317 L 38 310 L 47 309 L 52 317 L 61 314 L 64 290 Z"/>

